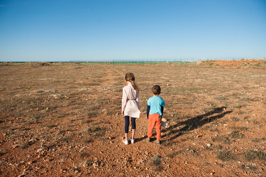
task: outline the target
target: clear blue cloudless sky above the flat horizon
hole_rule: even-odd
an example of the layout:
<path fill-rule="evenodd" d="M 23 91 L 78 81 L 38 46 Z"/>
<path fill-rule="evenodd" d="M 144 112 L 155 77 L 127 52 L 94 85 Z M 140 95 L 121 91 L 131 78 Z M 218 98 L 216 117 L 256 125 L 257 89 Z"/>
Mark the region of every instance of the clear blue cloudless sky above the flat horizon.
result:
<path fill-rule="evenodd" d="M 0 0 L 0 61 L 266 57 L 266 0 Z"/>

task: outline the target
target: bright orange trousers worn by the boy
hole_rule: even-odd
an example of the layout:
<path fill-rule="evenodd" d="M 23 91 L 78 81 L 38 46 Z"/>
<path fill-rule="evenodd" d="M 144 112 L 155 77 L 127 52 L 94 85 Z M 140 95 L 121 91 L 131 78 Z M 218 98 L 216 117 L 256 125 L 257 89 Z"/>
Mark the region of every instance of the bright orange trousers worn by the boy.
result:
<path fill-rule="evenodd" d="M 155 126 L 156 128 L 156 138 L 157 141 L 160 141 L 161 139 L 161 123 L 162 123 L 162 117 L 159 114 L 151 114 L 148 115 L 148 138 L 152 136 L 152 131 Z"/>

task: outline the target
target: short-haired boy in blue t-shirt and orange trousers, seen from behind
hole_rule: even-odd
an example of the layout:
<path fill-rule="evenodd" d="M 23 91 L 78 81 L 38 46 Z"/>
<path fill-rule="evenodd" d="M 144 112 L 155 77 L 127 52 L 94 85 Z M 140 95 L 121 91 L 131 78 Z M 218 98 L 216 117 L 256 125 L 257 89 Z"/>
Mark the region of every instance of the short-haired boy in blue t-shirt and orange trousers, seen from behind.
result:
<path fill-rule="evenodd" d="M 147 106 L 147 118 L 148 118 L 148 138 L 147 142 L 150 142 L 149 138 L 152 135 L 152 130 L 155 126 L 156 129 L 156 143 L 160 145 L 161 139 L 161 123 L 163 116 L 163 108 L 165 106 L 165 102 L 163 98 L 158 95 L 161 93 L 161 88 L 158 85 L 155 85 L 151 89 L 153 96 L 148 99 Z"/>

